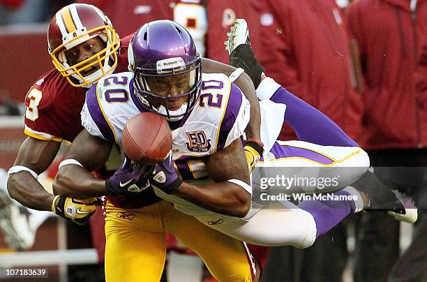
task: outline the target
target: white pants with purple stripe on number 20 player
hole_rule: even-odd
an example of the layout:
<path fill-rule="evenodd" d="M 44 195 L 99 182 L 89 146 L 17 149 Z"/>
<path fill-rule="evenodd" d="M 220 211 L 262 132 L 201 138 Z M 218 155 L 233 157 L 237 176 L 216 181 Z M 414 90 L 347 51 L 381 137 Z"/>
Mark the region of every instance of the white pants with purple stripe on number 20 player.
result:
<path fill-rule="evenodd" d="M 294 148 L 298 150 L 294 151 Z M 286 151 L 289 154 L 295 152 L 302 152 L 303 154 L 281 158 L 280 154 Z M 313 161 L 315 159 L 317 161 Z M 315 177 L 333 177 L 334 174 L 340 173 L 338 186 L 323 189 L 323 191 L 336 191 L 352 184 L 361 177 L 368 170 L 369 158 L 366 152 L 359 147 L 331 147 L 301 141 L 278 141 L 270 152 L 264 154 L 264 161 L 258 165 L 263 168 L 274 166 L 278 169 L 270 170 L 269 168 L 265 170 L 267 177 L 275 177 L 277 172 L 286 173 L 288 168 L 306 169 L 308 166 L 311 170 L 332 168 L 325 171 L 318 170 L 318 175 Z M 348 169 L 338 170 L 338 168 Z M 299 176 L 304 176 L 304 170 L 300 170 L 300 172 Z M 325 173 L 329 173 L 329 175 L 324 175 Z M 309 176 L 313 177 L 312 171 L 310 171 Z M 311 186 L 302 188 L 306 193 L 313 193 Z M 315 241 L 316 224 L 313 216 L 286 200 L 276 202 L 280 206 L 279 208 L 262 208 L 262 205 L 254 202 L 253 195 L 253 205 L 248 215 L 245 218 L 237 218 L 208 211 L 177 196 L 167 195 L 157 188 L 155 191 L 161 198 L 173 202 L 179 211 L 195 216 L 200 222 L 223 232 L 225 235 L 250 244 L 262 246 L 291 245 L 306 248 Z"/>

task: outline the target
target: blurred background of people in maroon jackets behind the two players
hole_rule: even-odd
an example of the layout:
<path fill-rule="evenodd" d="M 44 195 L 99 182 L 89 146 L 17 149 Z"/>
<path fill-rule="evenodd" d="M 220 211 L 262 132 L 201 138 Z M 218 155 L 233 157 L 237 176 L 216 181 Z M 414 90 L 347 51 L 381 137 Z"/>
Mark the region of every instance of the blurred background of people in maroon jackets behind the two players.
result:
<path fill-rule="evenodd" d="M 73 2 L 0 0 L 0 168 L 8 170 L 13 165 L 25 138 L 22 102 L 29 87 L 52 68 L 47 22 Z M 224 63 L 228 62 L 223 44 L 226 34 L 237 17 L 245 18 L 265 73 L 327 114 L 361 144 L 384 184 L 411 195 L 417 203 L 427 202 L 426 0 L 76 2 L 98 6 L 121 37 L 145 22 L 175 20 L 190 31 L 202 56 Z M 280 136 L 281 140 L 296 138 L 290 128 L 283 128 Z M 402 167 L 421 169 L 408 177 L 398 172 Z M 52 170 L 45 177 L 46 186 L 54 176 Z M 3 183 L 7 176 L 1 177 Z M 419 179 L 424 179 L 422 187 Z M 2 189 L 0 193 L 7 193 Z M 425 208 L 420 205 L 417 223 L 403 230 L 385 214 L 363 213 L 341 223 L 308 249 L 271 248 L 263 280 L 427 281 Z M 6 215 L 2 216 L 0 226 L 6 228 Z M 27 250 L 59 248 L 60 240 L 52 238 L 52 230 L 60 236 L 57 221 L 61 219 L 52 214 L 39 223 L 35 244 Z M 92 248 L 98 240 L 96 229 L 91 234 L 89 228 L 73 223 L 66 223 L 64 232 L 65 249 Z M 2 240 L 0 255 L 17 251 L 8 244 L 11 240 Z M 175 251 L 169 257 L 168 271 L 174 274 L 167 280 L 177 279 L 181 264 L 186 263 L 185 269 L 195 269 L 195 281 L 209 281 L 200 260 L 173 238 L 170 242 Z M 69 281 L 103 281 L 102 251 L 96 258 L 100 267 L 68 266 Z"/>

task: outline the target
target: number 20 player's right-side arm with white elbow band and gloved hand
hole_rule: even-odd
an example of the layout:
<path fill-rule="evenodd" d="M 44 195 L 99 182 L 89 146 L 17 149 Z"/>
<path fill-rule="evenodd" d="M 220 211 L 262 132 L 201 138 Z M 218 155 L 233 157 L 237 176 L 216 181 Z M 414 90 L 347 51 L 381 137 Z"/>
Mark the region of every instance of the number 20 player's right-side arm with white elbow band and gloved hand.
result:
<path fill-rule="evenodd" d="M 207 158 L 206 165 L 216 183 L 196 186 L 182 182 L 173 164 L 163 161 L 156 165 L 156 176 L 163 174 L 163 177 L 153 177 L 153 186 L 220 214 L 246 216 L 252 191 L 241 140 L 234 140 L 227 147 L 216 151 Z M 156 179 L 160 179 L 161 183 Z"/>

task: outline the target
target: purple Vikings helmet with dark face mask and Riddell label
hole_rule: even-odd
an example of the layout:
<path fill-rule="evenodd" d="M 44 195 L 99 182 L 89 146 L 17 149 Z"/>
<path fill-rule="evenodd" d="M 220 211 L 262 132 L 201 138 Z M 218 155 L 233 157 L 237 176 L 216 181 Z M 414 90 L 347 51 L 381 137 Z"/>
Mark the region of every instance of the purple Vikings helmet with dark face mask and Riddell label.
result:
<path fill-rule="evenodd" d="M 130 42 L 128 60 L 135 95 L 147 110 L 178 121 L 193 109 L 200 96 L 202 69 L 193 38 L 181 25 L 170 20 L 144 24 Z M 179 77 L 183 80 L 168 84 Z M 177 100 L 181 102 L 173 107 Z"/>

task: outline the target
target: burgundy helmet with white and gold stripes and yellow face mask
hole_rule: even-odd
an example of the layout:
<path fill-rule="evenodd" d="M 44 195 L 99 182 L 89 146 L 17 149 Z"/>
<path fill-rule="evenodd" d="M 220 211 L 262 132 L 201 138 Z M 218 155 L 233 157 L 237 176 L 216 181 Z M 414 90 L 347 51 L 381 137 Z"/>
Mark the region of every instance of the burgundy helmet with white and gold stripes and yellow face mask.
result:
<path fill-rule="evenodd" d="M 96 36 L 103 40 L 106 47 L 70 66 L 64 52 Z M 52 17 L 47 31 L 47 45 L 52 63 L 70 84 L 74 87 L 90 87 L 116 68 L 120 38 L 110 19 L 100 9 L 93 5 L 73 3 L 61 8 Z M 87 76 L 82 75 L 93 67 L 98 70 Z"/>

